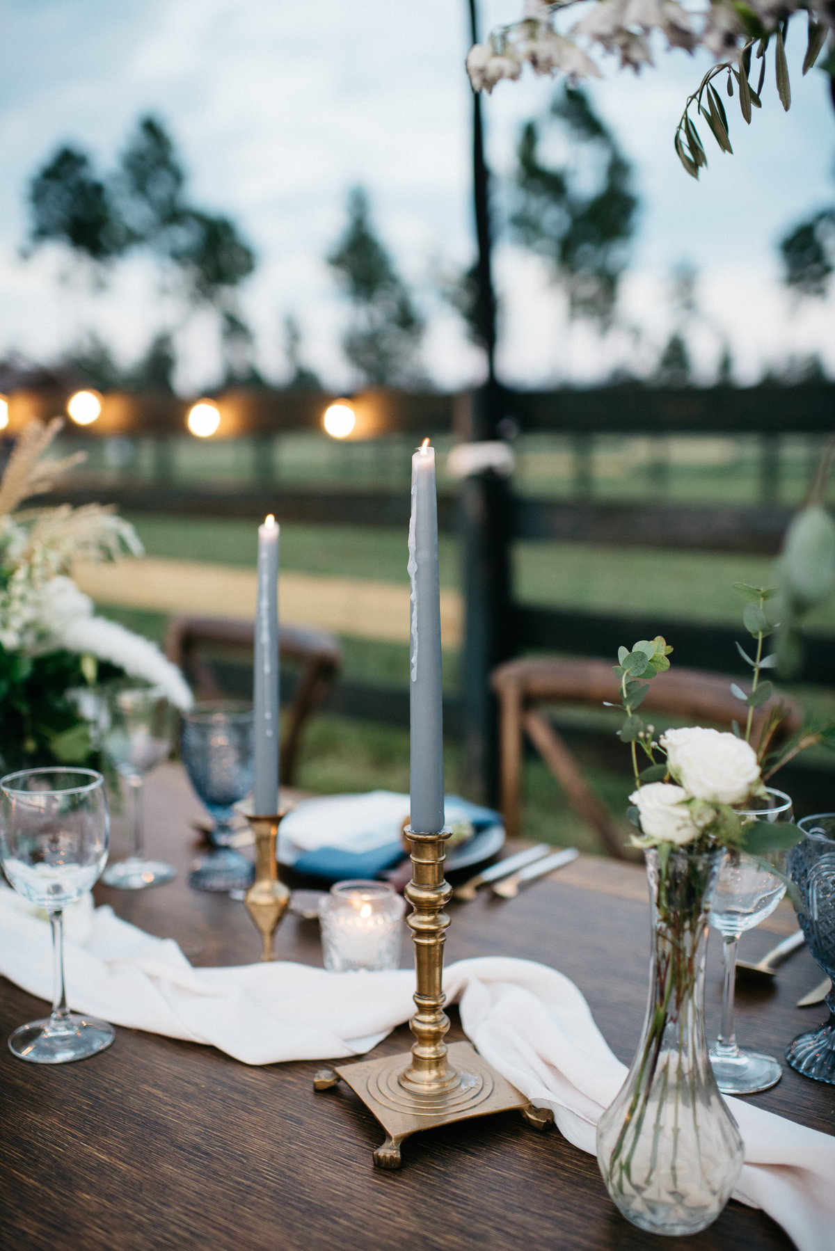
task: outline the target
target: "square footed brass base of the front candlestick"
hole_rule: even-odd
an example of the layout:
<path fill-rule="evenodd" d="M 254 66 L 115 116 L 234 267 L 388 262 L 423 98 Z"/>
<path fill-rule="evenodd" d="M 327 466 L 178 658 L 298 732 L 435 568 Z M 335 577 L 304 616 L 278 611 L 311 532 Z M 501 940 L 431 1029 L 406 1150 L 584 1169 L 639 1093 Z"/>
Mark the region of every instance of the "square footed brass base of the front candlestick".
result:
<path fill-rule="evenodd" d="M 437 1093 L 412 1093 L 401 1086 L 398 1078 L 412 1062 L 411 1052 L 359 1065 L 322 1068 L 315 1075 L 314 1087 L 328 1090 L 342 1078 L 373 1112 L 386 1131 L 386 1141 L 374 1150 L 378 1168 L 399 1168 L 401 1143 L 419 1130 L 513 1108 L 518 1108 L 536 1128 L 545 1130 L 553 1120 L 548 1110 L 532 1107 L 525 1095 L 520 1095 L 482 1060 L 471 1043 L 449 1043 L 447 1056 L 461 1081 L 452 1090 Z"/>

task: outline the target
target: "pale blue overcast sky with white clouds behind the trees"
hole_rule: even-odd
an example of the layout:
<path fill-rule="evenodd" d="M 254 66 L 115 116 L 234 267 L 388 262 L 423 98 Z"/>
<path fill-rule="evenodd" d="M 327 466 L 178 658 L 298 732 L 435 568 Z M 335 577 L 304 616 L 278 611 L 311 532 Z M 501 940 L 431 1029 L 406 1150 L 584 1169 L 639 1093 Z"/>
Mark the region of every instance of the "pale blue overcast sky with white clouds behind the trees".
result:
<path fill-rule="evenodd" d="M 521 0 L 487 0 L 484 29 L 517 8 Z M 68 266 L 58 249 L 19 254 L 26 183 L 55 148 L 71 141 L 106 169 L 136 118 L 153 111 L 177 141 L 193 201 L 230 214 L 257 250 L 242 301 L 267 375 L 282 377 L 280 325 L 293 311 L 310 365 L 334 387 L 351 383 L 338 347 L 344 308 L 323 256 L 342 229 L 348 188 L 362 183 L 429 317 L 429 374 L 444 387 L 478 377 L 478 354 L 432 289 L 433 274 L 468 264 L 473 249 L 464 0 L 0 0 L 0 352 L 48 359 L 96 328 L 128 362 L 169 315 L 141 261 L 119 265 L 94 296 L 78 280 L 59 281 Z M 633 161 L 642 200 L 622 299 L 623 322 L 640 338 L 616 333 L 601 343 L 582 325 L 568 332 L 540 263 L 502 243 L 499 364 L 508 382 L 648 368 L 672 325 L 669 275 L 685 260 L 700 271 L 692 349 L 705 379 L 725 340 L 744 382 L 792 353 L 817 352 L 835 374 L 835 300 L 797 310 L 779 281 L 781 234 L 835 203 L 835 113 L 824 74 L 800 75 L 802 43 L 797 20 L 790 113 L 771 73 L 750 128 L 731 101 L 735 155 L 711 144 L 700 183 L 679 165 L 672 136 L 707 63 L 661 55 L 640 78 L 606 66 L 593 105 Z M 518 129 L 552 90 L 526 75 L 486 100 L 497 175 L 512 171 Z M 212 322 L 194 319 L 179 349 L 180 389 L 210 385 Z"/>

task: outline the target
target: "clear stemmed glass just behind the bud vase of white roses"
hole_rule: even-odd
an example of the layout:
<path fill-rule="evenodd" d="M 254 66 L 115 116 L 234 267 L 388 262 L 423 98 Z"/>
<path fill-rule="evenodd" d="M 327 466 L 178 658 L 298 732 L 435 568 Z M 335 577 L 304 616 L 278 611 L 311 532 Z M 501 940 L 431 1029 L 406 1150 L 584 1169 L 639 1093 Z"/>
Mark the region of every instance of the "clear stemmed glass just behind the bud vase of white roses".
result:
<path fill-rule="evenodd" d="M 767 787 L 769 806 L 742 812 L 752 821 L 791 822 L 791 799 L 782 791 Z M 756 859 L 745 852 L 730 851 L 719 876 L 710 923 L 722 936 L 722 1025 L 716 1042 L 710 1045 L 710 1062 L 716 1085 L 724 1095 L 754 1095 L 780 1081 L 782 1070 L 772 1056 L 741 1048 L 734 1032 L 734 982 L 736 950 L 741 934 L 771 916 L 786 893 L 786 883 L 767 866 L 785 871 L 785 852 L 770 852 Z"/>

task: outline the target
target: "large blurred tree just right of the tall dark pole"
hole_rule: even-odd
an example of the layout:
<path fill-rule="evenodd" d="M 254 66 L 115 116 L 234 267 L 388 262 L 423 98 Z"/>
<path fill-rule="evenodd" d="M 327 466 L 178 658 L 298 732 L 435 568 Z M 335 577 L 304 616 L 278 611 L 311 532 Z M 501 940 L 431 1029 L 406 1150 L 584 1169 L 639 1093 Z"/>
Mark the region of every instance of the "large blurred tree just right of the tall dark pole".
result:
<path fill-rule="evenodd" d="M 571 317 L 607 328 L 628 259 L 637 198 L 632 170 L 580 88 L 566 86 L 550 116 L 571 141 L 565 165 L 543 164 L 542 128 L 528 121 L 517 148 L 513 236 L 548 261 Z M 590 186 L 591 184 L 591 186 Z"/>

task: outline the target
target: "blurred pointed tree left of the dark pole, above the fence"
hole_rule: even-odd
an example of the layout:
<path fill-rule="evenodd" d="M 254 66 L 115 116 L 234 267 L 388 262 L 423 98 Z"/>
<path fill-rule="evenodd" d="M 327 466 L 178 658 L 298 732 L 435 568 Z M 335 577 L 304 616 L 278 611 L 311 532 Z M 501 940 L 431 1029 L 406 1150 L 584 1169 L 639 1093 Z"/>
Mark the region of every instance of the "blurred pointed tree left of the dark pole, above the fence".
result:
<path fill-rule="evenodd" d="M 351 305 L 342 348 L 363 383 L 413 380 L 423 319 L 374 234 L 368 195 L 361 186 L 348 195 L 348 224 L 327 259 Z"/>

